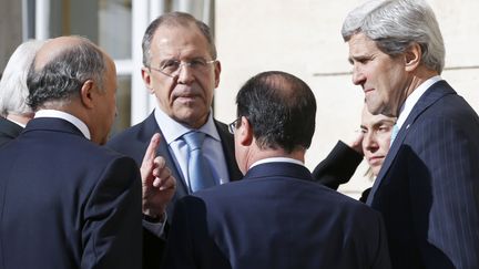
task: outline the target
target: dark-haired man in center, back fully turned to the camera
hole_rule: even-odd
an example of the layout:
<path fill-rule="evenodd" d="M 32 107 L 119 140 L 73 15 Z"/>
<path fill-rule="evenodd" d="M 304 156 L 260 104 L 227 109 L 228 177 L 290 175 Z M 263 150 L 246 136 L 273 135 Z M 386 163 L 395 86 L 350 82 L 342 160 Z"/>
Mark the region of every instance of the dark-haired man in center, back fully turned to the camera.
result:
<path fill-rule="evenodd" d="M 240 90 L 234 133 L 245 177 L 177 201 L 166 268 L 389 268 L 381 217 L 313 182 L 304 166 L 316 101 L 265 72 Z"/>

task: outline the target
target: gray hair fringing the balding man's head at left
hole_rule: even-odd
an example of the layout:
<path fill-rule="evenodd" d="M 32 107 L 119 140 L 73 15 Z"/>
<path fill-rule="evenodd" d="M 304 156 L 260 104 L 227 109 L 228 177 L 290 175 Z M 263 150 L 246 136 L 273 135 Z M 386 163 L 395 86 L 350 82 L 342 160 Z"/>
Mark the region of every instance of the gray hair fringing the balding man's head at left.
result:
<path fill-rule="evenodd" d="M 90 40 L 81 37 L 79 42 L 64 49 L 44 66 L 35 69 L 33 61 L 27 79 L 30 91 L 28 103 L 37 111 L 45 102 L 70 102 L 80 95 L 83 83 L 93 80 L 103 90 L 106 71 L 103 52 Z"/>

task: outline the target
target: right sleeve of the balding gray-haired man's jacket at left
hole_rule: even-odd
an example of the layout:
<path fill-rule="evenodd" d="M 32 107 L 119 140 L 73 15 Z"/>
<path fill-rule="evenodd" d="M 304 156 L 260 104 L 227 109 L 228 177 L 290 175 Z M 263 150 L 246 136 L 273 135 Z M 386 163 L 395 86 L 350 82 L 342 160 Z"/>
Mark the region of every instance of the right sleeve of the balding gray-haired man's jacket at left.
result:
<path fill-rule="evenodd" d="M 121 157 L 102 172 L 84 205 L 81 268 L 141 268 L 140 170 Z"/>

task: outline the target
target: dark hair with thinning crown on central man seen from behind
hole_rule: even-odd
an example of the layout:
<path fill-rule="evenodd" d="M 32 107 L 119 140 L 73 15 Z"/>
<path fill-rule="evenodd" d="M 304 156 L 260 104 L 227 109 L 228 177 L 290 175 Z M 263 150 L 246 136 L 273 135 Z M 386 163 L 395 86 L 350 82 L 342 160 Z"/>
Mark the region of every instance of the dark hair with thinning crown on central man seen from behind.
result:
<path fill-rule="evenodd" d="M 236 104 L 237 116 L 248 120 L 259 148 L 292 153 L 310 146 L 316 100 L 300 79 L 281 71 L 259 73 L 242 86 Z"/>

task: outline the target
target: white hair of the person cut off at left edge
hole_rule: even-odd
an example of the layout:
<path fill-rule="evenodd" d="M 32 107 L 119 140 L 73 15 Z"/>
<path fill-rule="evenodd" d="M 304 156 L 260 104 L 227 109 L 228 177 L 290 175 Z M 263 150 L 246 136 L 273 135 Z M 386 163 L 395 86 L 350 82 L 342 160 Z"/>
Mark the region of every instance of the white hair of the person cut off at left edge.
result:
<path fill-rule="evenodd" d="M 0 115 L 27 116 L 33 111 L 27 104 L 29 94 L 27 74 L 37 51 L 44 41 L 29 40 L 20 44 L 10 56 L 0 81 Z"/>

